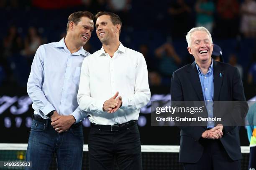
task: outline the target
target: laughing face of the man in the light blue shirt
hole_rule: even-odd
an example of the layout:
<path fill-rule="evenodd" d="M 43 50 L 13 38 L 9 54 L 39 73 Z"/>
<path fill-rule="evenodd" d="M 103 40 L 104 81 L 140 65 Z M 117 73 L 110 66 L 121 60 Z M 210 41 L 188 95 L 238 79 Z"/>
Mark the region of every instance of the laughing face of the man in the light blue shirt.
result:
<path fill-rule="evenodd" d="M 79 46 L 85 45 L 92 35 L 93 20 L 87 17 L 82 17 L 77 24 L 73 22 L 70 24 L 69 29 L 72 30 L 72 39 Z"/>

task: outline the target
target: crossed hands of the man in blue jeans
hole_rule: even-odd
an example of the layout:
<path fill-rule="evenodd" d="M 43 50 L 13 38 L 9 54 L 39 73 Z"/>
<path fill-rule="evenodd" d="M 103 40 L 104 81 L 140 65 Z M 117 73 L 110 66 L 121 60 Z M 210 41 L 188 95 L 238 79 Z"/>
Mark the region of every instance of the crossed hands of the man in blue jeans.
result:
<path fill-rule="evenodd" d="M 51 125 L 58 132 L 62 133 L 67 131 L 76 122 L 72 115 L 60 115 L 51 120 Z"/>

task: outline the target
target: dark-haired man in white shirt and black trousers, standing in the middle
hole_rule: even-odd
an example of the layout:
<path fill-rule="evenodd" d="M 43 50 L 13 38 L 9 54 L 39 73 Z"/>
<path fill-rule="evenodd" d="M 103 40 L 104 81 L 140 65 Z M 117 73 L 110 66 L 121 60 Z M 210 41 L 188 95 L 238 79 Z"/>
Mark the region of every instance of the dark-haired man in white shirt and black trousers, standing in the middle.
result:
<path fill-rule="evenodd" d="M 146 61 L 119 41 L 121 20 L 110 12 L 96 15 L 102 48 L 86 57 L 81 68 L 77 101 L 89 112 L 91 170 L 142 170 L 137 120 L 150 100 Z"/>

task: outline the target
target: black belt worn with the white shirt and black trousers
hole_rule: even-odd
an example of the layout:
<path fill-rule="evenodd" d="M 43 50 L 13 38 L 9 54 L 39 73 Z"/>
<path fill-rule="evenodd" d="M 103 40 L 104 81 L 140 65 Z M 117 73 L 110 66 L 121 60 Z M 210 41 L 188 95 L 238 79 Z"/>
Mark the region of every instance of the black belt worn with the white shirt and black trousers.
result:
<path fill-rule="evenodd" d="M 129 127 L 136 125 L 136 124 L 137 124 L 137 120 L 131 120 L 129 122 L 125 122 L 122 124 L 116 124 L 116 125 L 97 125 L 95 123 L 91 123 L 91 126 L 92 126 L 92 128 L 97 128 L 98 130 L 117 132 L 120 130 L 128 129 Z"/>

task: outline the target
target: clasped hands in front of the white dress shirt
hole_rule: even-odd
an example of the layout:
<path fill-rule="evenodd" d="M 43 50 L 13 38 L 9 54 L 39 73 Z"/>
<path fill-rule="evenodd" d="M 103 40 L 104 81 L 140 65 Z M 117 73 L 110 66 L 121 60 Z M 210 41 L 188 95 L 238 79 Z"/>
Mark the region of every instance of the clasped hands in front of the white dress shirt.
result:
<path fill-rule="evenodd" d="M 116 92 L 113 97 L 106 100 L 103 104 L 103 111 L 108 113 L 116 112 L 122 106 L 122 97 L 118 96 L 119 92 Z"/>

